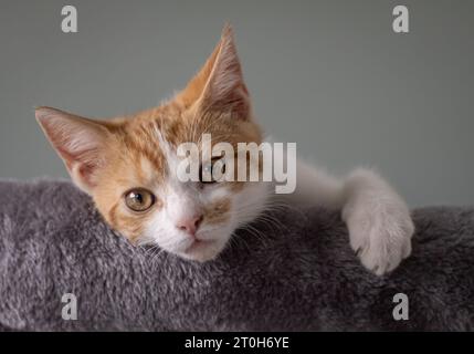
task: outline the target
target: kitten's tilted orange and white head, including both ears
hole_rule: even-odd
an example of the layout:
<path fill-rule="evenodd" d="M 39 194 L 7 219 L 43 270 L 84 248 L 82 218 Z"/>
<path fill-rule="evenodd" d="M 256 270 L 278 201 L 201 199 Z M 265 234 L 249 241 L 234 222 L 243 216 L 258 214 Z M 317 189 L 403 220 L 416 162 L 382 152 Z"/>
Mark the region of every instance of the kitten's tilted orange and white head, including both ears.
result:
<path fill-rule="evenodd" d="M 177 176 L 185 158 L 178 146 L 202 148 L 204 133 L 211 134 L 212 145 L 227 142 L 235 150 L 238 143 L 262 142 L 230 28 L 187 87 L 159 107 L 108 121 L 40 107 L 36 118 L 74 183 L 135 243 L 156 243 L 207 261 L 265 205 L 263 183 L 182 183 Z M 194 163 L 203 169 L 213 160 Z"/>

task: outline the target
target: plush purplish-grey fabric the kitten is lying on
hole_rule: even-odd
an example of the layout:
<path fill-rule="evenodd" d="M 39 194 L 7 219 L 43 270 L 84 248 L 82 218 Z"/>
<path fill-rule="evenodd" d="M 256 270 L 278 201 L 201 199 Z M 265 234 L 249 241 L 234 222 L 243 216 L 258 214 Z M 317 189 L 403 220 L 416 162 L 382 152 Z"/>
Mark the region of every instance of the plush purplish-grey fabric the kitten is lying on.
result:
<path fill-rule="evenodd" d="M 413 253 L 383 278 L 349 248 L 337 212 L 275 214 L 199 264 L 151 257 L 105 226 L 67 181 L 0 183 L 3 330 L 473 330 L 474 210 L 413 212 Z M 64 293 L 78 301 L 64 321 Z M 392 298 L 409 296 L 408 321 Z"/>

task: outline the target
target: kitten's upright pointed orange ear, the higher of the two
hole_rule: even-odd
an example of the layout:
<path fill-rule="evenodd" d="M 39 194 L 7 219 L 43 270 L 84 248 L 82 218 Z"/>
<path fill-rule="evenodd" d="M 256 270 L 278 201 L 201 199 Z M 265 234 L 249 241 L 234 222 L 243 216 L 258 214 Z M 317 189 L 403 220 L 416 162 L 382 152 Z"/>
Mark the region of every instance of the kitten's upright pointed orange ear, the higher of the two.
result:
<path fill-rule="evenodd" d="M 177 100 L 186 107 L 196 105 L 204 111 L 229 112 L 239 118 L 249 118 L 249 91 L 229 25 L 222 31 L 211 56 Z"/>

